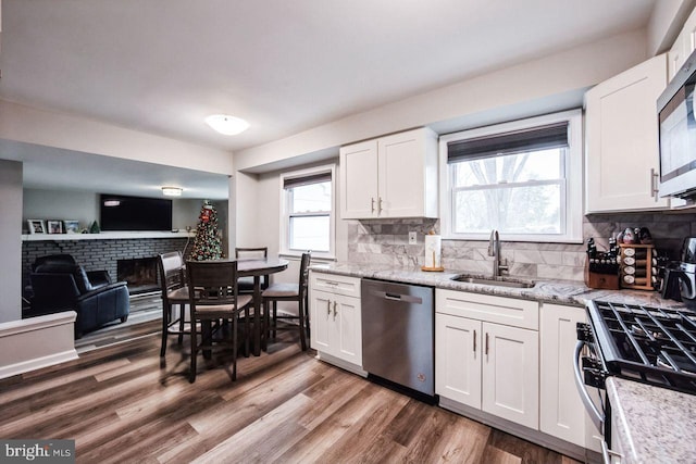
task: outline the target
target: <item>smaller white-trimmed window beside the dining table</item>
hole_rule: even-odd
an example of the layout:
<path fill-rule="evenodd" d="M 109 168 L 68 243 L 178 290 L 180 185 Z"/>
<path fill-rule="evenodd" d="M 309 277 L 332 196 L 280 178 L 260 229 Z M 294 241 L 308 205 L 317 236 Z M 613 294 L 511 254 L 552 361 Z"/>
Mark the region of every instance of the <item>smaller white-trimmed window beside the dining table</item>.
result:
<path fill-rule="evenodd" d="M 334 166 L 281 176 L 283 220 L 281 249 L 287 254 L 311 250 L 314 258 L 334 255 Z"/>

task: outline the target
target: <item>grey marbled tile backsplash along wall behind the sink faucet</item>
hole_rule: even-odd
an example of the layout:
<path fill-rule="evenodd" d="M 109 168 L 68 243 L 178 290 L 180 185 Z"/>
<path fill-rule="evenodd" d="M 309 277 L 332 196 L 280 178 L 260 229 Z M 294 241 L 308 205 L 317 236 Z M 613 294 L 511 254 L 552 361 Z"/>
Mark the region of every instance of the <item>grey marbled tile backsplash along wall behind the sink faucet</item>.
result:
<path fill-rule="evenodd" d="M 598 250 L 608 248 L 609 237 L 626 227 L 647 227 L 660 254 L 679 258 L 684 237 L 696 236 L 696 213 L 592 214 L 584 217 L 584 242 L 595 238 Z M 348 255 L 352 262 L 383 263 L 394 266 L 423 264 L 424 235 L 439 233 L 439 221 L 427 218 L 369 220 L 348 223 Z M 409 244 L 408 234 L 418 233 L 418 243 Z M 502 259 L 508 260 L 511 276 L 583 280 L 584 243 L 533 243 L 506 241 L 500 236 Z M 473 274 L 490 274 L 493 259 L 488 241 L 443 240 L 443 265 Z"/>

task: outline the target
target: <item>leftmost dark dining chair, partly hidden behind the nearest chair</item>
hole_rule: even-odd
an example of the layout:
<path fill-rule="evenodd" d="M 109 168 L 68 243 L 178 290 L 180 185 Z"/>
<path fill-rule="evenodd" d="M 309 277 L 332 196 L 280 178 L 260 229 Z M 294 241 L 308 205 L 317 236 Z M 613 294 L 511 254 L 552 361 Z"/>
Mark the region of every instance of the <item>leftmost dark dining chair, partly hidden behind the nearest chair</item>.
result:
<path fill-rule="evenodd" d="M 184 335 L 190 335 L 190 324 L 185 322 L 185 305 L 188 304 L 188 287 L 186 286 L 185 266 L 182 253 L 173 251 L 158 256 L 160 271 L 160 288 L 162 290 L 162 348 L 160 358 L 166 353 L 170 335 L 178 336 L 182 344 Z M 174 306 L 178 306 L 178 315 L 174 315 Z"/>

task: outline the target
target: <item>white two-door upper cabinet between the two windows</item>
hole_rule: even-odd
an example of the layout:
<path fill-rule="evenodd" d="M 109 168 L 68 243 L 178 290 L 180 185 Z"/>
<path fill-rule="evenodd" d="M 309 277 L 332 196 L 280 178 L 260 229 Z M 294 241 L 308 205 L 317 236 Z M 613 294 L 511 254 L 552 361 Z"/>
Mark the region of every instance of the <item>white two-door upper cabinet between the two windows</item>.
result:
<path fill-rule="evenodd" d="M 428 128 L 340 149 L 340 216 L 437 217 L 437 136 Z"/>

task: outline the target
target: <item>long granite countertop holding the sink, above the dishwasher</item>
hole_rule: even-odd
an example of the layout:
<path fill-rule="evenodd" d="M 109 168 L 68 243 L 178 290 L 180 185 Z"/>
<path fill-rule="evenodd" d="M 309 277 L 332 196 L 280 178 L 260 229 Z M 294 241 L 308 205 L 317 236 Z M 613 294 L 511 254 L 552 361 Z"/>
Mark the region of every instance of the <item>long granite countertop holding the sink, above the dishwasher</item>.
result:
<path fill-rule="evenodd" d="M 314 264 L 314 272 L 336 274 L 351 277 L 368 277 L 381 280 L 393 280 L 405 284 L 424 285 L 450 290 L 472 291 L 476 293 L 512 297 L 545 303 L 584 306 L 588 300 L 609 300 L 616 303 L 644 304 L 650 306 L 675 308 L 682 303 L 660 298 L 657 291 L 641 290 L 597 290 L 574 280 L 535 280 L 532 288 L 511 288 L 483 284 L 469 284 L 451 280 L 467 271 L 445 269 L 444 272 L 424 272 L 420 267 L 394 267 L 385 264 L 365 264 L 338 262 L 332 264 Z M 480 276 L 487 277 L 487 276 Z M 515 279 L 511 280 L 531 280 Z"/>

